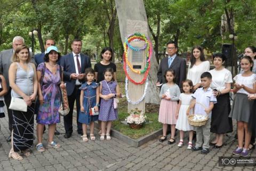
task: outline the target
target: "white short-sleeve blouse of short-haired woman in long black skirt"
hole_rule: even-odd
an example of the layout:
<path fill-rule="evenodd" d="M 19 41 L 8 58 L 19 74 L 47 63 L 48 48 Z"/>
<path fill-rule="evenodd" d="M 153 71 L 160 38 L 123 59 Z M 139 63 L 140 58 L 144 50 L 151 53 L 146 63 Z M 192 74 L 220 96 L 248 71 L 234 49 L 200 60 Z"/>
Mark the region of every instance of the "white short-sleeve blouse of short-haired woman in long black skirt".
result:
<path fill-rule="evenodd" d="M 222 69 L 220 71 L 213 69 L 209 72 L 212 74 L 211 89 L 217 89 L 221 91 L 226 88 L 226 83 L 233 82 L 232 74 L 227 69 Z"/>

